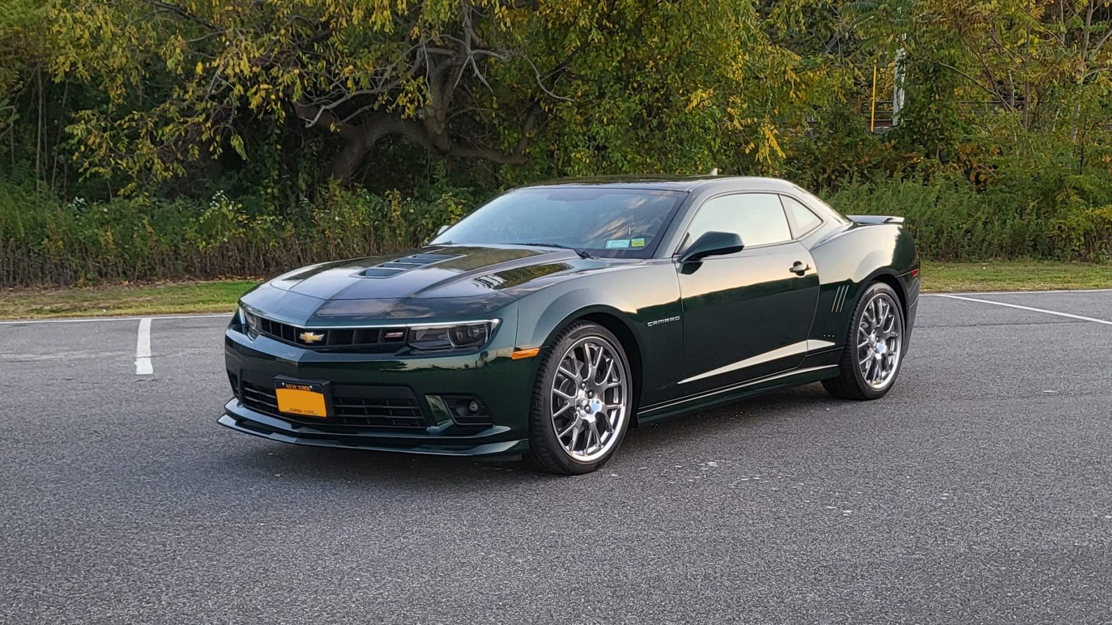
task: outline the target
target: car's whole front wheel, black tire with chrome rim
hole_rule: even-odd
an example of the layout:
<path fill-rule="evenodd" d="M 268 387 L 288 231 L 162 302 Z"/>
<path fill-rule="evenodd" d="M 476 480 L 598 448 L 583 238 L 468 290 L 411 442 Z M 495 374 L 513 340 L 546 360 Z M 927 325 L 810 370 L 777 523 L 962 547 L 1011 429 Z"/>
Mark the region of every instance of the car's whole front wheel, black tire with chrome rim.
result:
<path fill-rule="evenodd" d="M 598 324 L 572 324 L 537 369 L 526 457 L 559 475 L 597 469 L 622 445 L 633 398 L 629 360 L 617 337 Z"/>

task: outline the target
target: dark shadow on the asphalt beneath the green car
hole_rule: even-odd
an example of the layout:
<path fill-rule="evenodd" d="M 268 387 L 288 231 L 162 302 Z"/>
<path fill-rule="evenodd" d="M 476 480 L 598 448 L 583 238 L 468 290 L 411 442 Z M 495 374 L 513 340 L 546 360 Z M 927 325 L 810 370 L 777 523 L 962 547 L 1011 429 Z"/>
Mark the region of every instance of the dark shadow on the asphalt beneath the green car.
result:
<path fill-rule="evenodd" d="M 825 410 L 833 399 L 820 385 L 773 390 L 724 406 L 633 428 L 620 458 L 687 454 L 702 439 L 728 436 L 756 438 L 778 430 L 790 415 Z M 391 488 L 438 488 L 446 485 L 536 483 L 560 480 L 533 469 L 519 458 L 467 458 L 329 447 L 267 444 L 238 457 L 241 469 L 309 482 L 344 482 Z"/>

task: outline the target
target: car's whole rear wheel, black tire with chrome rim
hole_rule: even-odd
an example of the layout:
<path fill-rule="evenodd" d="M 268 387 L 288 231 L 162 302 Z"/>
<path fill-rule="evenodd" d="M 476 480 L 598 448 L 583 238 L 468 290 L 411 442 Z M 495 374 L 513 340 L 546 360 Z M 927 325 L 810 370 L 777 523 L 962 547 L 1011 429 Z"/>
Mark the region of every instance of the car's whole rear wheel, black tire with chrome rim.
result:
<path fill-rule="evenodd" d="M 907 343 L 903 308 L 892 287 L 868 285 L 850 318 L 838 376 L 823 380 L 840 399 L 880 399 L 892 389 Z"/>

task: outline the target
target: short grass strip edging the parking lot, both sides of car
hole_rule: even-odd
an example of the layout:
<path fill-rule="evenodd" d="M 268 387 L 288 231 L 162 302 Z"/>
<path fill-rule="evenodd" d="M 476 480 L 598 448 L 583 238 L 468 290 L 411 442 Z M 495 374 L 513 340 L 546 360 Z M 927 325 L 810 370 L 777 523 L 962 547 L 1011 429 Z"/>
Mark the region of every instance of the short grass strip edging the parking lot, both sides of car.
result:
<path fill-rule="evenodd" d="M 0 290 L 0 318 L 231 312 L 257 280 Z M 926 292 L 1112 288 L 1112 265 L 1044 261 L 924 262 Z"/>

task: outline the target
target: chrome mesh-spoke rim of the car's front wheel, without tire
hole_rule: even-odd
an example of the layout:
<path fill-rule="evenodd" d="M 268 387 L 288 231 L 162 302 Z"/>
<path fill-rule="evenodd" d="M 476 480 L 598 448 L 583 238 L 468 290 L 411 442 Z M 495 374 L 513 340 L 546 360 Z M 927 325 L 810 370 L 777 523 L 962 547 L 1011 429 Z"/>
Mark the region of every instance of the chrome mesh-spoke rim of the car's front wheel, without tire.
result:
<path fill-rule="evenodd" d="M 568 456 L 590 463 L 618 442 L 629 413 L 629 383 L 617 349 L 599 336 L 572 344 L 552 388 L 552 424 Z"/>

